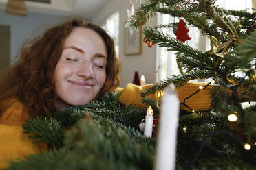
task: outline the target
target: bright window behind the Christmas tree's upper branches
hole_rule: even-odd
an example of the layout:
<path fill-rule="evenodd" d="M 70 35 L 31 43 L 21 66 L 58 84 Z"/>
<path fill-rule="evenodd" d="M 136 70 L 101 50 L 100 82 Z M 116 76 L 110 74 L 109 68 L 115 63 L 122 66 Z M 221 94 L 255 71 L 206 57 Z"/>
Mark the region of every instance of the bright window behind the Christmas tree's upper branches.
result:
<path fill-rule="evenodd" d="M 246 0 L 217 0 L 216 5 L 220 5 L 228 10 L 247 10 L 248 12 L 252 12 L 252 1 Z M 167 23 L 178 23 L 177 18 L 173 18 L 168 14 L 157 14 L 158 25 L 167 24 Z M 187 44 L 191 45 L 196 49 L 200 49 L 202 51 L 208 51 L 211 49 L 210 40 L 207 36 L 203 36 L 200 34 L 200 31 L 196 27 L 189 27 L 189 36 L 192 38 L 191 40 L 186 41 Z M 162 32 L 167 33 L 173 37 L 176 37 L 173 34 L 172 29 L 162 29 Z M 180 71 L 176 62 L 176 55 L 172 51 L 166 51 L 163 47 L 157 47 L 156 49 L 156 69 L 160 69 L 158 71 L 158 81 L 163 80 L 166 77 L 170 77 L 173 74 L 180 74 Z"/>

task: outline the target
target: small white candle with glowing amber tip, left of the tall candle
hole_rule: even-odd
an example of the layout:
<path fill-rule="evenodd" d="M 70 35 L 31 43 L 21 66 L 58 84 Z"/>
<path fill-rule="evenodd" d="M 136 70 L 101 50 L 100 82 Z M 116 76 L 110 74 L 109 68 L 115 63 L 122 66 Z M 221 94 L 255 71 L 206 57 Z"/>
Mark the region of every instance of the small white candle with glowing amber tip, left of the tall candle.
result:
<path fill-rule="evenodd" d="M 147 108 L 147 115 L 145 119 L 144 136 L 151 138 L 153 131 L 153 109 L 151 106 Z"/>

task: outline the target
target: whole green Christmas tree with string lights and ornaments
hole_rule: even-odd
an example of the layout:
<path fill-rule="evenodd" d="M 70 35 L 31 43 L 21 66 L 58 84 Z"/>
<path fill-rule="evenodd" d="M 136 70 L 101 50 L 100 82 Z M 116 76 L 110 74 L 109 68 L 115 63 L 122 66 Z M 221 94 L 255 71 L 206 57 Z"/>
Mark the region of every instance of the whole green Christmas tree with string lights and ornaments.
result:
<path fill-rule="evenodd" d="M 150 0 L 129 17 L 129 26 L 145 25 L 156 12 L 179 14 L 211 40 L 211 50 L 203 52 L 162 33 L 161 28 L 175 29 L 176 23 L 144 28 L 145 42 L 177 54 L 182 73 L 143 91 L 143 104 L 151 105 L 157 114 L 158 102 L 147 96 L 170 83 L 180 88 L 189 80 L 209 81 L 187 98 L 211 88 L 208 110 L 193 110 L 186 99 L 181 103 L 176 169 L 255 169 L 256 106 L 243 108 L 241 104 L 256 99 L 255 14 L 224 10 L 214 0 Z M 14 162 L 8 169 L 153 169 L 157 141 L 145 138 L 138 127 L 145 109 L 117 101 L 118 93 L 109 93 L 86 106 L 30 119 L 25 133 L 51 149 Z"/>

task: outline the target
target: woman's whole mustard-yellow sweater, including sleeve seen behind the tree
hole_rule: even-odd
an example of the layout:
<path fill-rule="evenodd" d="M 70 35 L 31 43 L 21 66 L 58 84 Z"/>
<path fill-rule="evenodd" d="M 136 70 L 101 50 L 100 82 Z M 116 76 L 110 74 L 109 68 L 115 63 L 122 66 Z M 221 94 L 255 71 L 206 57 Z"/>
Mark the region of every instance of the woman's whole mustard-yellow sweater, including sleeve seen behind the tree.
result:
<path fill-rule="evenodd" d="M 178 89 L 180 101 L 183 101 L 184 98 L 198 90 L 198 86 L 204 85 L 206 84 L 186 84 Z M 134 84 L 127 84 L 125 88 L 118 88 L 116 90 L 120 93 L 119 101 L 123 104 L 140 104 L 140 91 L 149 86 L 151 85 L 136 86 Z M 149 97 L 156 99 L 156 95 Z M 0 117 L 0 169 L 8 167 L 10 162 L 18 158 L 37 154 L 41 149 L 47 150 L 45 143 L 32 143 L 28 135 L 23 134 L 22 126 L 30 117 L 20 101 L 8 101 L 9 104 L 10 102 L 12 104 Z M 188 99 L 186 104 L 195 111 L 208 110 L 211 104 L 209 89 L 201 90 L 195 97 Z"/>

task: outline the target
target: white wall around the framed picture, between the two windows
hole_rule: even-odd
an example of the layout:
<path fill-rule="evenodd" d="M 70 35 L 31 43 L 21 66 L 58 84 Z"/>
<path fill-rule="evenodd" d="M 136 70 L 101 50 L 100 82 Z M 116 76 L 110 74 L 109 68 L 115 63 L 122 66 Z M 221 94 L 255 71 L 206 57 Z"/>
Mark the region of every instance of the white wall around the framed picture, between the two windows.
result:
<path fill-rule="evenodd" d="M 139 2 L 139 1 L 138 1 Z M 156 45 L 149 48 L 143 44 L 142 40 L 142 54 L 134 56 L 125 56 L 124 54 L 124 32 L 125 21 L 127 20 L 127 8 L 130 10 L 131 5 L 129 0 L 109 0 L 109 2 L 92 17 L 92 22 L 98 25 L 105 23 L 105 19 L 117 10 L 120 13 L 120 60 L 122 62 L 122 84 L 132 82 L 134 79 L 134 72 L 138 71 L 140 75 L 145 75 L 147 84 L 154 83 L 154 74 L 156 71 Z M 151 25 L 156 24 L 156 17 L 151 19 Z M 144 36 L 142 36 L 144 37 Z"/>

